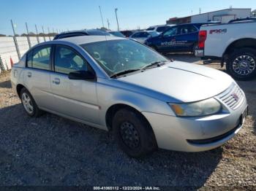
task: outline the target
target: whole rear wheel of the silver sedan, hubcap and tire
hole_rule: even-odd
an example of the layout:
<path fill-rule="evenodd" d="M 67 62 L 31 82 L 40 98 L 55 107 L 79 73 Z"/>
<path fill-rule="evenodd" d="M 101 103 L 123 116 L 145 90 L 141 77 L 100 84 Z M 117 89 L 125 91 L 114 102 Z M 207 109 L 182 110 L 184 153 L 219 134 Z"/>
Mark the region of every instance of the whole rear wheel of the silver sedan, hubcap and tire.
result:
<path fill-rule="evenodd" d="M 23 104 L 23 108 L 30 117 L 39 117 L 42 115 L 42 110 L 38 108 L 34 98 L 25 87 L 20 90 L 20 99 Z"/>

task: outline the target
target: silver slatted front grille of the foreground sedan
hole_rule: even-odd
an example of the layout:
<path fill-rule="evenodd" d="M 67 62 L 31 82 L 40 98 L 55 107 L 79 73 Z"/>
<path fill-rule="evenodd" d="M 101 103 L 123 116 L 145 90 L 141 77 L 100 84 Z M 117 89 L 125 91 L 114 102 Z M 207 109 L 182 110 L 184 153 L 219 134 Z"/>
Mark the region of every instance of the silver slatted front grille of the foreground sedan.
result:
<path fill-rule="evenodd" d="M 235 110 L 244 101 L 244 93 L 238 85 L 233 83 L 227 90 L 217 95 L 217 98 L 230 107 L 230 109 Z"/>

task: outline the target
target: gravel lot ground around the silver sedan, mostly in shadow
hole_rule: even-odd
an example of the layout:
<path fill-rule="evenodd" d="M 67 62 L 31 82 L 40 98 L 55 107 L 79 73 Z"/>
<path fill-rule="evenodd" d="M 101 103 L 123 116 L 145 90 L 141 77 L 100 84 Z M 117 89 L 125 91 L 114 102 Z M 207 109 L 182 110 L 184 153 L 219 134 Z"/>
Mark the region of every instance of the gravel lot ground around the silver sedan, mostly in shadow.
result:
<path fill-rule="evenodd" d="M 199 63 L 191 55 L 169 55 Z M 219 65 L 208 65 L 219 69 Z M 256 189 L 256 80 L 238 82 L 249 116 L 238 136 L 199 153 L 159 150 L 143 160 L 121 152 L 103 130 L 44 114 L 31 118 L 0 77 L 0 185 L 195 186 Z M 251 187 L 251 189 L 253 189 Z"/>

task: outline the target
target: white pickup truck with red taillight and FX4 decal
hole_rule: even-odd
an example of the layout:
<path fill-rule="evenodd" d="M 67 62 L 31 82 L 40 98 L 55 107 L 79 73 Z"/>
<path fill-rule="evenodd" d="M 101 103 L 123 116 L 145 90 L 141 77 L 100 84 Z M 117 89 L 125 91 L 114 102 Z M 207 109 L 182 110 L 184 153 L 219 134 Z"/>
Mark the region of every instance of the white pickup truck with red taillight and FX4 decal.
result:
<path fill-rule="evenodd" d="M 203 25 L 198 34 L 195 55 L 202 60 L 220 61 L 238 80 L 256 77 L 256 20 L 233 20 L 230 23 Z"/>

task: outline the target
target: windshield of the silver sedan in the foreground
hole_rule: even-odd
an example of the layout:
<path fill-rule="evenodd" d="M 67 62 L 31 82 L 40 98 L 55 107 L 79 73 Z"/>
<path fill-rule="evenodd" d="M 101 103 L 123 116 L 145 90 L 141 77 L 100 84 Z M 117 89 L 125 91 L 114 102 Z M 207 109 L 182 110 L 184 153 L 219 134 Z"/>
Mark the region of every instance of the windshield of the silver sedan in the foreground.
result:
<path fill-rule="evenodd" d="M 129 39 L 80 44 L 111 77 L 122 71 L 145 68 L 152 63 L 168 61 L 159 53 Z"/>

